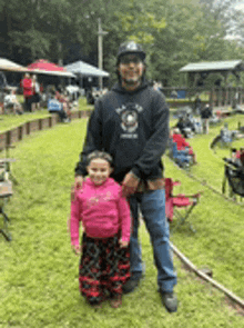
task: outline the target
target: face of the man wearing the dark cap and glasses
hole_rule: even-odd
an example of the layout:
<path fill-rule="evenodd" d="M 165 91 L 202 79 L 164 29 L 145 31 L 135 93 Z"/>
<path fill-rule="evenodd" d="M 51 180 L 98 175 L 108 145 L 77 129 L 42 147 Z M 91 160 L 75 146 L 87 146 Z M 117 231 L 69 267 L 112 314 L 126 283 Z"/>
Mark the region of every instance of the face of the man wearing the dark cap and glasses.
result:
<path fill-rule="evenodd" d="M 139 56 L 122 56 L 119 64 L 119 72 L 122 79 L 122 86 L 125 88 L 136 88 L 141 82 L 144 69 L 144 63 Z"/>

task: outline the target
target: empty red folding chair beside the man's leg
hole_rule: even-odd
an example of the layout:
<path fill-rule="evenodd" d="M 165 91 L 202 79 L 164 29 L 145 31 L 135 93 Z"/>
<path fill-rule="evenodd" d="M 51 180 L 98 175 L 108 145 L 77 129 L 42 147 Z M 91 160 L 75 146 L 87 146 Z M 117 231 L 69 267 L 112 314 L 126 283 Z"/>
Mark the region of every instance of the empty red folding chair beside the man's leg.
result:
<path fill-rule="evenodd" d="M 173 181 L 171 178 L 165 178 L 165 211 L 166 218 L 170 222 L 173 221 L 175 216 L 179 220 L 176 226 L 172 229 L 175 231 L 179 226 L 183 223 L 189 223 L 190 229 L 195 232 L 195 229 L 192 227 L 191 222 L 187 220 L 194 207 L 199 203 L 201 192 L 195 195 L 185 196 L 179 193 L 173 196 L 174 186 L 181 185 L 180 181 Z M 184 209 L 182 211 L 181 209 Z"/>

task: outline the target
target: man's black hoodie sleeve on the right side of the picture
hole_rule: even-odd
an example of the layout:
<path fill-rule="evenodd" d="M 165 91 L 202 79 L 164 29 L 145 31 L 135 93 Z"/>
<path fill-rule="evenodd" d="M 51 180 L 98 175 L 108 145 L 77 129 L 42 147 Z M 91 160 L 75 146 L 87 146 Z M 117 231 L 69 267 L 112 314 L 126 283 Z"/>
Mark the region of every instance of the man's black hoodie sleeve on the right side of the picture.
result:
<path fill-rule="evenodd" d="M 132 172 L 142 178 L 142 176 L 153 176 L 154 169 L 159 168 L 159 162 L 165 152 L 169 140 L 169 120 L 170 110 L 161 93 L 154 95 L 152 110 L 152 133 L 142 151 L 140 158 L 135 161 Z"/>

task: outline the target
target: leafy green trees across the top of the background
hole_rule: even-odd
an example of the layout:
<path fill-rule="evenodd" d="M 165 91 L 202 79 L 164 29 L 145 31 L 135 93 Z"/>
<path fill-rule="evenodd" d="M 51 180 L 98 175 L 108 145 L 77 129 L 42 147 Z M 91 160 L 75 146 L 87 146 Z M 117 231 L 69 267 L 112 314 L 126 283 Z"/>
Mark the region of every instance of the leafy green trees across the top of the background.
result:
<path fill-rule="evenodd" d="M 179 83 L 179 69 L 197 61 L 243 59 L 244 13 L 237 0 L 2 0 L 0 56 L 28 64 L 44 58 L 98 63 L 98 19 L 104 69 L 114 71 L 118 47 L 143 44 L 148 74 Z M 18 10 L 17 10 L 18 9 Z M 238 34 L 230 41 L 227 34 Z M 115 76 L 114 76 L 115 78 Z"/>

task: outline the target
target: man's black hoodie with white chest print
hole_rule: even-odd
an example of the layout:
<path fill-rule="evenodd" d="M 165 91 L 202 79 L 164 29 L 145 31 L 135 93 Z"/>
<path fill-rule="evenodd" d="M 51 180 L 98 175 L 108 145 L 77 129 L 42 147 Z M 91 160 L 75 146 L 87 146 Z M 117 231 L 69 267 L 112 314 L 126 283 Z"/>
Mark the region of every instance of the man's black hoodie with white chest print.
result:
<path fill-rule="evenodd" d="M 112 177 L 118 182 L 131 170 L 144 181 L 162 178 L 169 113 L 162 92 L 146 82 L 133 91 L 116 83 L 95 102 L 75 175 L 85 176 L 87 156 L 103 150 L 113 157 Z"/>

